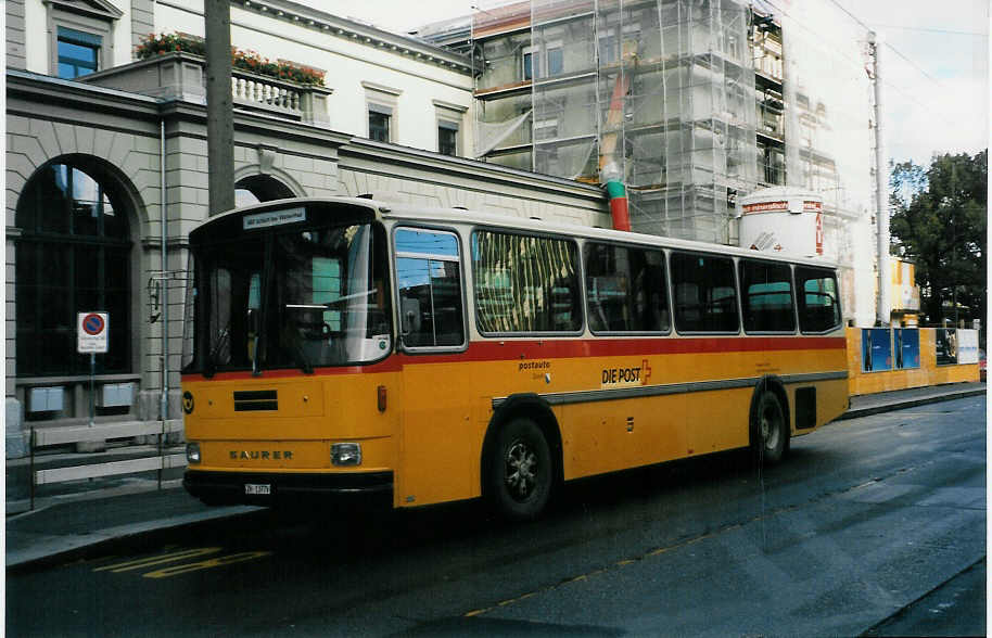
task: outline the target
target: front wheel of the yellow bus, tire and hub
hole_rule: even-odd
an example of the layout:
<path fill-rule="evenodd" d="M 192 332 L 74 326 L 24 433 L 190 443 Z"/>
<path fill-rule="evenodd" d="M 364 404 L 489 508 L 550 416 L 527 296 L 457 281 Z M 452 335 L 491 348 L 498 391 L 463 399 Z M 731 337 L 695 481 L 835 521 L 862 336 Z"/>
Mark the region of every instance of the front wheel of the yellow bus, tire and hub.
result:
<path fill-rule="evenodd" d="M 544 432 L 530 419 L 513 419 L 496 433 L 486 476 L 486 495 L 511 521 L 537 518 L 551 497 L 555 476 Z"/>

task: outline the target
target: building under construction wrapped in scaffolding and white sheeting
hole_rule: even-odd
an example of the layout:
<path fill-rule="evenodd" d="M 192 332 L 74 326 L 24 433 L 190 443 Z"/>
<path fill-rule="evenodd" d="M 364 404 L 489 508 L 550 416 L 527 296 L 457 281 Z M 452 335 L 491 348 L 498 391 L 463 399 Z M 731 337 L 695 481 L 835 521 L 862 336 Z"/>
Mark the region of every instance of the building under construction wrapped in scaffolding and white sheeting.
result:
<path fill-rule="evenodd" d="M 870 323 L 870 50 L 836 7 L 532 0 L 437 27 L 418 35 L 470 52 L 479 69 L 480 160 L 590 183 L 613 176 L 633 230 L 721 244 L 737 244 L 739 197 L 812 190 L 845 315 Z"/>

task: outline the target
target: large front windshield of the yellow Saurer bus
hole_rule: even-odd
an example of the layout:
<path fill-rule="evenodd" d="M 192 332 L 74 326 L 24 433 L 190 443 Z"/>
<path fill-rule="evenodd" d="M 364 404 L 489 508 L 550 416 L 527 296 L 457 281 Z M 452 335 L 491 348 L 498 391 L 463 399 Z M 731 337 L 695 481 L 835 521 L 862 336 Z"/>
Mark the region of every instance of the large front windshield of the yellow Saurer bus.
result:
<path fill-rule="evenodd" d="M 370 224 L 245 232 L 198 258 L 206 374 L 366 363 L 391 352 L 384 232 Z"/>

